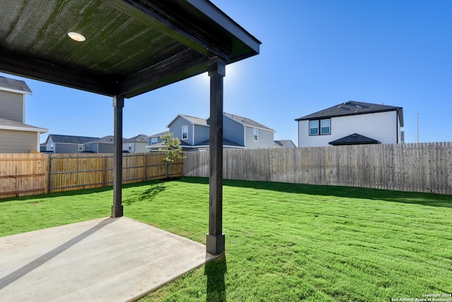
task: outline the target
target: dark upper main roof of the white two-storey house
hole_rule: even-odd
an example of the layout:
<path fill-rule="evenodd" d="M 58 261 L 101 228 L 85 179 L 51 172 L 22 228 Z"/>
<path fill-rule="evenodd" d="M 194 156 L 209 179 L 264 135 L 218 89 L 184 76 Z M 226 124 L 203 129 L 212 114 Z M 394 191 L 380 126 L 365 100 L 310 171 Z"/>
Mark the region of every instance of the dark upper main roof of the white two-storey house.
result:
<path fill-rule="evenodd" d="M 345 103 L 335 105 L 331 108 L 320 110 L 310 115 L 305 115 L 304 117 L 299 117 L 296 119 L 296 121 L 299 122 L 302 120 L 314 120 L 319 118 L 343 117 L 347 115 L 362 115 L 367 113 L 386 112 L 394 110 L 398 112 L 400 127 L 403 127 L 403 108 L 396 106 L 357 102 L 355 100 L 349 100 Z"/>

